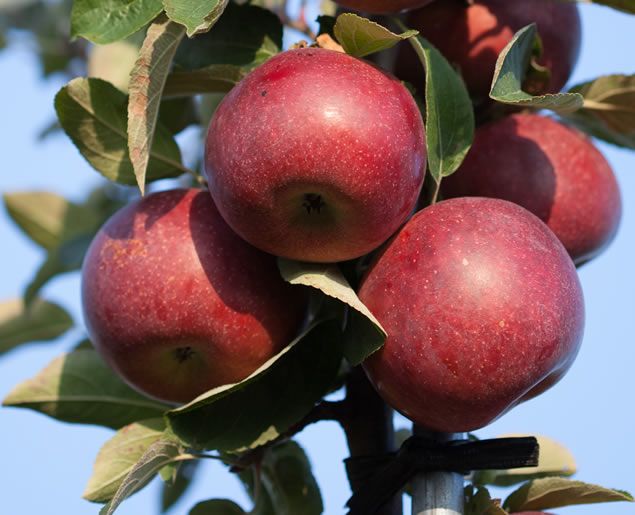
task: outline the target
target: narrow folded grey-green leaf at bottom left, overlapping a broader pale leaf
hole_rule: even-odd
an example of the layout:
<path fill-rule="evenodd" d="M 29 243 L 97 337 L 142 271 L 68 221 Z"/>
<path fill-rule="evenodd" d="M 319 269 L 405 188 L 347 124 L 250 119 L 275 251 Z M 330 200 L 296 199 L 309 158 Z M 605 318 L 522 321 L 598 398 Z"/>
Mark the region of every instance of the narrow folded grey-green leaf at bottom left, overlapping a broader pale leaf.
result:
<path fill-rule="evenodd" d="M 100 510 L 99 515 L 112 515 L 123 501 L 152 481 L 163 467 L 177 461 L 191 459 L 196 458 L 185 454 L 181 445 L 172 439 L 162 438 L 154 442 L 132 467 L 113 498 Z"/>

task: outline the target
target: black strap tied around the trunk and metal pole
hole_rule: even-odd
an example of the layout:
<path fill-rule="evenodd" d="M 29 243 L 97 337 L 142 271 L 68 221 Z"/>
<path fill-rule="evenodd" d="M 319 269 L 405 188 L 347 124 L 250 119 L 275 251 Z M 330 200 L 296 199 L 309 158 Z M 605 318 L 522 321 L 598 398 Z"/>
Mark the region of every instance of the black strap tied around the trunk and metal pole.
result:
<path fill-rule="evenodd" d="M 345 461 L 352 484 L 359 485 L 346 503 L 348 515 L 372 515 L 417 474 L 535 467 L 538 453 L 534 437 L 443 442 L 412 436 L 397 452 Z"/>

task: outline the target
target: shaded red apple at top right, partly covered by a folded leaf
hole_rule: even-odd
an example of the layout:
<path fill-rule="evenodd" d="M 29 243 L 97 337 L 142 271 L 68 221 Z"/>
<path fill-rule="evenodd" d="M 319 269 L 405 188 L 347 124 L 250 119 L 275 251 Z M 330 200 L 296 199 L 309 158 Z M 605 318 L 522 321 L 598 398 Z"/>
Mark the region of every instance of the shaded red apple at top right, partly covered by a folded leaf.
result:
<path fill-rule="evenodd" d="M 458 67 L 475 99 L 487 99 L 498 54 L 521 28 L 535 22 L 543 42 L 540 64 L 551 71 L 546 88 L 532 93 L 555 93 L 569 79 L 582 40 L 575 3 L 554 0 L 442 0 L 409 13 L 406 25 L 436 46 Z M 396 64 L 400 78 L 420 87 L 423 69 L 408 45 Z"/>

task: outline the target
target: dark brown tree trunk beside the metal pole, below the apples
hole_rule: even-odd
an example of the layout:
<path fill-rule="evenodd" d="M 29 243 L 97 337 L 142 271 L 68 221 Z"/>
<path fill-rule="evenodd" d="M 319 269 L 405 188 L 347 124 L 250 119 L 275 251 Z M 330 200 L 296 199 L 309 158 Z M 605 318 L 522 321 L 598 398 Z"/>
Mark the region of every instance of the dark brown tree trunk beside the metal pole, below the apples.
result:
<path fill-rule="evenodd" d="M 346 382 L 346 416 L 340 423 L 346 434 L 351 458 L 381 455 L 395 450 L 392 409 L 377 394 L 361 367 L 354 368 Z M 357 484 L 349 477 L 351 489 Z M 384 504 L 375 515 L 402 515 L 401 493 Z"/>

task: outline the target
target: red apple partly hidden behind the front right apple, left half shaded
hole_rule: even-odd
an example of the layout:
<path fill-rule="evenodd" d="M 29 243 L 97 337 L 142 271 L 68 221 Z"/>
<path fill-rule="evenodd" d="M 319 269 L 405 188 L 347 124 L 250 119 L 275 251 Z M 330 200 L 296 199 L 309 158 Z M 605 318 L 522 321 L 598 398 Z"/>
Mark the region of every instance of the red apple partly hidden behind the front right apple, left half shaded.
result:
<path fill-rule="evenodd" d="M 622 203 L 609 163 L 582 133 L 551 118 L 518 114 L 480 127 L 445 197 L 494 197 L 543 220 L 581 264 L 615 236 Z"/>

